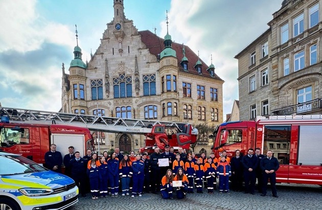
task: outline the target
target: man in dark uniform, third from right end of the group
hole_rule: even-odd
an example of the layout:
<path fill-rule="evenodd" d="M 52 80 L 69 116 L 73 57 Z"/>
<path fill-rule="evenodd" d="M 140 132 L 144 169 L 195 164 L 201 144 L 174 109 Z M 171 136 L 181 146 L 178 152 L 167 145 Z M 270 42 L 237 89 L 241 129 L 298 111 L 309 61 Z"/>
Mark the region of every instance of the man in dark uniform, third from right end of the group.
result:
<path fill-rule="evenodd" d="M 257 158 L 253 154 L 254 149 L 249 148 L 248 154 L 243 156 L 242 164 L 244 168 L 245 193 L 255 194 Z"/>

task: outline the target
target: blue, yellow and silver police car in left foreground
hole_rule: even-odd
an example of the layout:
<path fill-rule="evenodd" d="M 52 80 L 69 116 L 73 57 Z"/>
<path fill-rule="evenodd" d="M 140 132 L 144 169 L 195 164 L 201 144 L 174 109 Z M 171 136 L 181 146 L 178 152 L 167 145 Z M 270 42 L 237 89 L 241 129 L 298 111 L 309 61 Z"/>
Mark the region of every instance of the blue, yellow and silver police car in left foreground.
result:
<path fill-rule="evenodd" d="M 73 179 L 22 156 L 0 152 L 0 209 L 65 209 L 78 202 Z"/>

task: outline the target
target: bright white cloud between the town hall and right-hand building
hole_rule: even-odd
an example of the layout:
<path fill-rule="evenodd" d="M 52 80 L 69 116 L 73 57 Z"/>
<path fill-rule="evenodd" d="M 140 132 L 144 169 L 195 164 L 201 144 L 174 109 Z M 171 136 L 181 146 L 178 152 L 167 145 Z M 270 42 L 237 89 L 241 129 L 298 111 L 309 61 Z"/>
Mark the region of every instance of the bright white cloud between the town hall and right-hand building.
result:
<path fill-rule="evenodd" d="M 182 6 L 184 5 L 184 7 Z M 279 10 L 281 1 L 272 0 L 176 0 L 171 2 L 169 34 L 174 41 L 183 42 L 200 58 L 216 67 L 223 84 L 224 118 L 238 99 L 238 60 L 234 56 L 252 40 L 268 29 L 272 13 Z M 265 8 L 265 9 L 259 9 Z M 161 36 L 166 34 L 165 21 L 160 23 Z"/>

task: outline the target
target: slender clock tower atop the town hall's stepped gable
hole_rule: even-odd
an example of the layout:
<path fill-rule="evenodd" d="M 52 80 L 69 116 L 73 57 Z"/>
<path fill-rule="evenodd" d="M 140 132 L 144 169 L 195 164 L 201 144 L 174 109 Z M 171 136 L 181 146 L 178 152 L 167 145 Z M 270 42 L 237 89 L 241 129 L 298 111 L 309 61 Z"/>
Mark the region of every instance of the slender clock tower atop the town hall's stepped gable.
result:
<path fill-rule="evenodd" d="M 124 5 L 123 0 L 114 0 L 114 36 L 119 41 L 119 52 L 122 56 L 123 54 L 123 48 L 122 48 L 122 42 L 123 38 L 125 36 L 124 34 Z"/>

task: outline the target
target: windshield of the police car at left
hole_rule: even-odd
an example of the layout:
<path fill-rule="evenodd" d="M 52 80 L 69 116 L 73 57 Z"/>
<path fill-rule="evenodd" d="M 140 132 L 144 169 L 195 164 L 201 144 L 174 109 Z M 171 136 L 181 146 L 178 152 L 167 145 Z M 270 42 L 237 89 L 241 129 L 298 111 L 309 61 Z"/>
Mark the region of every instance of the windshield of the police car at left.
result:
<path fill-rule="evenodd" d="M 0 175 L 24 174 L 38 171 L 46 171 L 45 168 L 22 157 L 13 154 L 0 155 Z"/>

